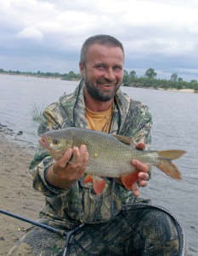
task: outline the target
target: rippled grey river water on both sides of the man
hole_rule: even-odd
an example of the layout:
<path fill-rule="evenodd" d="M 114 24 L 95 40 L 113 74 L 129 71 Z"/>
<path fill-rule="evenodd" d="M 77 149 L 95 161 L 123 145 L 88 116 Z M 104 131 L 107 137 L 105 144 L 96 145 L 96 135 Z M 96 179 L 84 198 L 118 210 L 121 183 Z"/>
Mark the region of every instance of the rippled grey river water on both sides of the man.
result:
<path fill-rule="evenodd" d="M 32 111 L 70 93 L 77 82 L 0 75 L 0 124 L 14 130 L 18 143 L 37 145 L 37 123 Z M 153 116 L 153 149 L 184 149 L 187 154 L 175 161 L 182 181 L 173 180 L 153 168 L 149 185 L 141 196 L 167 207 L 183 223 L 190 256 L 198 255 L 198 95 L 164 90 L 122 87 L 135 100 L 147 104 Z M 18 131 L 23 134 L 17 136 Z"/>

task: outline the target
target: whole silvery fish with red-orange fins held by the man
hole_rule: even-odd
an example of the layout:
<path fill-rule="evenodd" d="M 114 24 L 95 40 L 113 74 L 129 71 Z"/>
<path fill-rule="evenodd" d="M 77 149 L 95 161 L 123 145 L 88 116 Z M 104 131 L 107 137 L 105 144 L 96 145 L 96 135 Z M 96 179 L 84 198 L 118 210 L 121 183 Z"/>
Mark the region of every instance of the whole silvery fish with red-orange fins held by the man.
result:
<path fill-rule="evenodd" d="M 47 131 L 41 135 L 39 143 L 54 160 L 59 160 L 67 148 L 86 145 L 88 166 L 84 183 L 92 182 L 97 195 L 105 189 L 105 177 L 120 177 L 124 187 L 132 189 L 133 183 L 139 179 L 139 171 L 131 164 L 133 159 L 148 166 L 156 166 L 169 177 L 181 179 L 172 160 L 186 153 L 184 150 L 139 150 L 130 137 L 76 127 Z"/>

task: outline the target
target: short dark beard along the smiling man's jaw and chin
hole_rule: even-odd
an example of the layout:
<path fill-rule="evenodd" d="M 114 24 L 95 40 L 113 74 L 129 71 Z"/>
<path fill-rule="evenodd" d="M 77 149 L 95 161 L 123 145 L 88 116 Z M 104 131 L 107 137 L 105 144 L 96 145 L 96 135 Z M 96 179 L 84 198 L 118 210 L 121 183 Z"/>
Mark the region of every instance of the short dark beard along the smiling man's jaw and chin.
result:
<path fill-rule="evenodd" d="M 88 90 L 88 94 L 93 97 L 93 99 L 98 100 L 99 102 L 109 102 L 115 95 L 120 86 L 115 86 L 114 90 L 109 93 L 99 90 L 97 87 L 93 87 L 85 81 L 85 86 Z"/>

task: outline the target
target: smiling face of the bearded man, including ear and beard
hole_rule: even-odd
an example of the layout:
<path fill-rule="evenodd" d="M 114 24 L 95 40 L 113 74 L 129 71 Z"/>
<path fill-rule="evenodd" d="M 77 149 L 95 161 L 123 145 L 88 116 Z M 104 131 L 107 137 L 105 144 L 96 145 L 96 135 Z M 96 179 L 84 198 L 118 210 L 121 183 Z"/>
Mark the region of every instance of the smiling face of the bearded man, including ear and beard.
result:
<path fill-rule="evenodd" d="M 88 95 L 107 102 L 122 84 L 124 55 L 120 47 L 93 44 L 88 48 L 85 67 L 80 62 Z"/>

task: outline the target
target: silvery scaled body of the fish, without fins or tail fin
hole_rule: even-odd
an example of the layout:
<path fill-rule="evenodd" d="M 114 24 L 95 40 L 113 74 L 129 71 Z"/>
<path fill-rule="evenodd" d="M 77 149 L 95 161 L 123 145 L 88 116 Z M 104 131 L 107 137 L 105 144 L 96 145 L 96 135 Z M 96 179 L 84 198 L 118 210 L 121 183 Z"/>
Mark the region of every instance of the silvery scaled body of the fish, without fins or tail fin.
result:
<path fill-rule="evenodd" d="M 120 177 L 123 173 L 134 171 L 132 159 L 138 159 L 145 164 L 158 163 L 155 151 L 136 150 L 132 146 L 120 142 L 116 137 L 99 131 L 68 128 L 53 131 L 51 135 L 62 141 L 70 141 L 71 147 L 85 144 L 88 148 L 89 160 L 86 172 L 101 177 Z M 63 143 L 64 145 L 64 143 Z M 65 144 L 65 149 L 66 149 Z"/>

